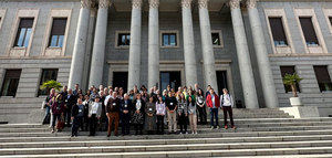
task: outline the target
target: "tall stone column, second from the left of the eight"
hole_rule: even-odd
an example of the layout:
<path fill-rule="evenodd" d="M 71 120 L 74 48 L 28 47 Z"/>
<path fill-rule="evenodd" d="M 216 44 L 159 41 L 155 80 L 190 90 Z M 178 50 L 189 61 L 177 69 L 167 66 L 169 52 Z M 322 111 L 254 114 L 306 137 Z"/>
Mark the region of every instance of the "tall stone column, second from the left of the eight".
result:
<path fill-rule="evenodd" d="M 93 42 L 93 52 L 91 61 L 91 71 L 89 86 L 98 86 L 103 82 L 103 70 L 105 59 L 105 43 L 107 31 L 107 14 L 111 6 L 110 0 L 100 0 L 95 34 Z"/>

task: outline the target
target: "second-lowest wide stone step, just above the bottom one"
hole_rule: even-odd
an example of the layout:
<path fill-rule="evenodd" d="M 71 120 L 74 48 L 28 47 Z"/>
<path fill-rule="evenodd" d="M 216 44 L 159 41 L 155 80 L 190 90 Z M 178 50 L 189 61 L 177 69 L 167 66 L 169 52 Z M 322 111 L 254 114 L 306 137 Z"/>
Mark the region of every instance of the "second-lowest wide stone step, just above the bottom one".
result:
<path fill-rule="evenodd" d="M 332 147 L 332 140 L 289 141 L 289 143 L 230 143 L 230 144 L 187 144 L 187 145 L 138 145 L 138 146 L 90 146 L 90 147 L 51 147 L 51 148 L 7 148 L 0 155 L 44 155 L 44 154 L 90 154 L 90 152 L 133 152 L 133 151 L 185 151 L 220 149 L 260 149 Z M 331 151 L 332 152 L 332 151 Z"/>

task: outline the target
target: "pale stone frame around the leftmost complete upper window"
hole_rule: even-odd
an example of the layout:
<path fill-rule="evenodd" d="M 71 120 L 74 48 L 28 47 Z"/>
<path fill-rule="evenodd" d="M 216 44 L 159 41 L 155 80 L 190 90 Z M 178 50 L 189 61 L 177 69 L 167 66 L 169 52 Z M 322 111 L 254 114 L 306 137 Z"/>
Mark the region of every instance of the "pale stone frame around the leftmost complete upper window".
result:
<path fill-rule="evenodd" d="M 35 25 L 38 23 L 38 17 L 39 17 L 39 9 L 19 9 L 17 11 L 17 15 L 11 29 L 11 34 L 10 34 L 10 43 L 7 46 L 7 55 L 8 56 L 29 56 L 30 51 L 31 51 L 31 45 L 34 40 L 34 32 L 35 32 Z M 15 48 L 14 42 L 20 24 L 21 18 L 33 18 L 33 24 L 32 24 L 32 31 L 29 40 L 28 48 Z"/>

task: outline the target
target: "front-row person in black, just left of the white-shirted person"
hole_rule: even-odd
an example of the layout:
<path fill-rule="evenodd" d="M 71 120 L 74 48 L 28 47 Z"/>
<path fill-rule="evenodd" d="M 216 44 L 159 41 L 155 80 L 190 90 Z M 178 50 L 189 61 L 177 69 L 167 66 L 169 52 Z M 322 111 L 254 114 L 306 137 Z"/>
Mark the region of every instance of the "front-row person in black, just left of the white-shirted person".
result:
<path fill-rule="evenodd" d="M 72 124 L 72 136 L 71 137 L 77 136 L 77 130 L 82 123 L 83 116 L 84 116 L 84 105 L 83 105 L 82 99 L 79 98 L 77 104 L 74 104 L 72 107 L 71 119 L 73 120 L 73 124 Z"/>

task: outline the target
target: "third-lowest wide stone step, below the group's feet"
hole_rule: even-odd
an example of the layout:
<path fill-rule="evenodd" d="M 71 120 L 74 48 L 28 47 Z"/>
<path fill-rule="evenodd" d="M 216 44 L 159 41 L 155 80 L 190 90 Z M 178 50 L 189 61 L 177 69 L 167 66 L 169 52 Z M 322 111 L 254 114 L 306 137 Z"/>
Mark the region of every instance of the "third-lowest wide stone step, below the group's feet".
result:
<path fill-rule="evenodd" d="M 81 138 L 81 137 L 80 137 Z M 230 143 L 280 143 L 280 141 L 309 141 L 309 140 L 332 140 L 332 135 L 315 136 L 279 136 L 279 137 L 231 137 L 231 138 L 184 138 L 184 139 L 127 139 L 105 140 L 105 137 L 95 139 L 71 138 L 49 139 L 44 141 L 18 141 L 0 143 L 0 148 L 46 148 L 46 147 L 96 147 L 96 146 L 149 146 L 149 145 L 190 145 L 190 144 L 230 144 Z M 35 138 L 38 139 L 38 138 Z"/>

